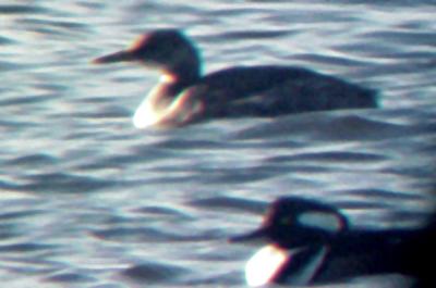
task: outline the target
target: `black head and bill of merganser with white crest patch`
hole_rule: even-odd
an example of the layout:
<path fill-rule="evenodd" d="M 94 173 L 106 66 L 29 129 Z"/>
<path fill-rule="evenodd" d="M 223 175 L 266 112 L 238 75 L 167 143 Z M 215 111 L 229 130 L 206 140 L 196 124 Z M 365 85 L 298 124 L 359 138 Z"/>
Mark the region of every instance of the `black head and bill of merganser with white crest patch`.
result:
<path fill-rule="evenodd" d="M 346 229 L 347 218 L 335 208 L 312 200 L 286 197 L 269 206 L 259 228 L 235 236 L 230 241 L 265 238 L 281 248 L 293 249 L 327 245 Z"/>

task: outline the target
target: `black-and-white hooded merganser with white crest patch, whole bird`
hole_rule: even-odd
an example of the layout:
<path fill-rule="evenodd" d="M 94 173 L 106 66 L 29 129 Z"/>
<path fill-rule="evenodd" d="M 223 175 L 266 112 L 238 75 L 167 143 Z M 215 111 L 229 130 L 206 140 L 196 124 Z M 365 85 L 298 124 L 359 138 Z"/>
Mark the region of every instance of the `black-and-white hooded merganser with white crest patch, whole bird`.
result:
<path fill-rule="evenodd" d="M 267 242 L 245 265 L 251 287 L 337 284 L 359 276 L 399 274 L 413 288 L 434 288 L 436 214 L 415 229 L 351 229 L 335 206 L 312 199 L 282 197 L 274 201 L 259 228 L 230 242 Z"/>

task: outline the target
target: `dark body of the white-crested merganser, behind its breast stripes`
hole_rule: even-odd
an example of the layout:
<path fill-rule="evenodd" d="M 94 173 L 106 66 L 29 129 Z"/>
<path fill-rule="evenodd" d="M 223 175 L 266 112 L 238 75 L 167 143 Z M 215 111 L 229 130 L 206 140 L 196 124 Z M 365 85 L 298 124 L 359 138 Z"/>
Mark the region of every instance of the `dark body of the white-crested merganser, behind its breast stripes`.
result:
<path fill-rule="evenodd" d="M 401 274 L 413 277 L 413 288 L 435 288 L 436 216 L 419 229 L 349 233 L 330 245 L 314 283 L 331 283 L 362 275 Z"/>

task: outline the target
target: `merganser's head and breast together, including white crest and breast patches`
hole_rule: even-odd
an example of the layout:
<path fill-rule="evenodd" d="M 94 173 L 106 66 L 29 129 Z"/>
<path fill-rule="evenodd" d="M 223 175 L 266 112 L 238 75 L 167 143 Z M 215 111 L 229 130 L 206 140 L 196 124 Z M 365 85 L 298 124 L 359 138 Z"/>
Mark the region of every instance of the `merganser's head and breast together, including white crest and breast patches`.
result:
<path fill-rule="evenodd" d="M 229 240 L 263 238 L 268 242 L 246 263 L 249 286 L 307 285 L 328 253 L 329 243 L 347 228 L 347 218 L 335 208 L 288 197 L 270 205 L 259 228 Z"/>

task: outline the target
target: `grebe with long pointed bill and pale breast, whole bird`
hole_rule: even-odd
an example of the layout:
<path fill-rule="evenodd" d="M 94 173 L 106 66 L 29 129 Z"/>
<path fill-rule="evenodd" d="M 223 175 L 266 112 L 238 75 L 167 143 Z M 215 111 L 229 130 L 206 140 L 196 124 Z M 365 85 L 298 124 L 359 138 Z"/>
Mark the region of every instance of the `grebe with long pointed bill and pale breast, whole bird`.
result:
<path fill-rule="evenodd" d="M 175 28 L 145 33 L 126 49 L 92 62 L 137 62 L 160 71 L 133 115 L 136 128 L 377 107 L 375 90 L 304 67 L 234 66 L 202 75 L 198 49 Z"/>

